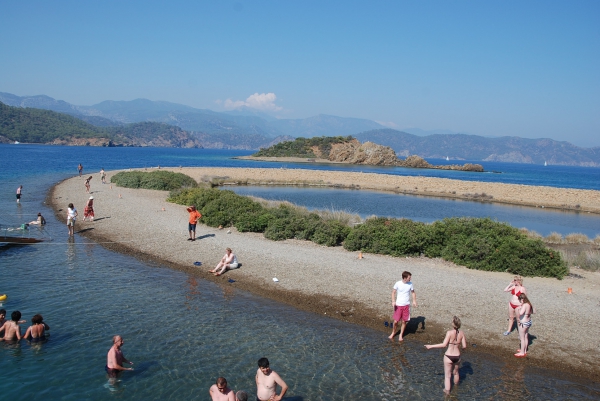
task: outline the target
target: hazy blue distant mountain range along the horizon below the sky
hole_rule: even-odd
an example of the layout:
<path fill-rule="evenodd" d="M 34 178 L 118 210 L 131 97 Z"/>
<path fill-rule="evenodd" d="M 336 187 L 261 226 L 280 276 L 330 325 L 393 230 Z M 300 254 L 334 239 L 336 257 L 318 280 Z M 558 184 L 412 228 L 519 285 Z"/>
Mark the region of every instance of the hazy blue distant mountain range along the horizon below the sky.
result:
<path fill-rule="evenodd" d="M 318 115 L 304 119 L 274 119 L 252 109 L 215 112 L 176 103 L 136 99 L 104 101 L 93 106 L 75 106 L 49 96 L 16 96 L 0 92 L 0 102 L 66 113 L 96 127 L 119 127 L 139 122 L 179 127 L 202 147 L 248 149 L 270 147 L 296 137 L 352 135 L 361 142 L 389 146 L 398 156 L 419 155 L 451 160 L 502 161 L 600 167 L 600 147 L 581 148 L 552 139 L 518 137 L 487 138 L 450 131 L 408 132 L 389 129 L 375 121 Z M 417 135 L 415 135 L 417 134 Z M 1 132 L 0 132 L 0 135 Z M 180 135 L 183 135 L 180 133 Z M 188 142 L 189 144 L 189 142 Z M 163 146 L 168 146 L 163 143 Z M 189 146 L 189 145 L 188 145 Z"/>

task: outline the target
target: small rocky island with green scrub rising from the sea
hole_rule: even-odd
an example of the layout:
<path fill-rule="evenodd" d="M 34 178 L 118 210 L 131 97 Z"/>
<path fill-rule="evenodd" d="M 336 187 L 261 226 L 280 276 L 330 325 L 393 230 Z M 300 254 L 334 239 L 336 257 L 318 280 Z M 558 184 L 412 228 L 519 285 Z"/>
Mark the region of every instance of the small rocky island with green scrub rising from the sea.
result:
<path fill-rule="evenodd" d="M 480 164 L 432 165 L 417 155 L 399 159 L 389 146 L 373 142 L 361 143 L 352 136 L 296 138 L 261 149 L 240 159 L 261 161 L 295 161 L 307 163 L 347 163 L 369 166 L 392 166 L 483 172 Z"/>

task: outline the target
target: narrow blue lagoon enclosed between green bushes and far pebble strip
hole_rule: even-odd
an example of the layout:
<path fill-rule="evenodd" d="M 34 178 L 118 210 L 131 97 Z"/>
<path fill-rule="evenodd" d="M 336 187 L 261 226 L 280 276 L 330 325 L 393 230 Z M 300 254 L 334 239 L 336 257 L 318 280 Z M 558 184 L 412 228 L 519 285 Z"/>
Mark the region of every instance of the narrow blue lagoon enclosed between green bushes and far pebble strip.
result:
<path fill-rule="evenodd" d="M 600 216 L 589 213 L 365 190 L 259 186 L 227 189 L 240 195 L 285 200 L 309 209 L 343 210 L 359 214 L 362 218 L 376 215 L 433 222 L 446 217 L 491 217 L 544 236 L 553 231 L 563 235 L 583 233 L 590 238 L 600 234 Z"/>

